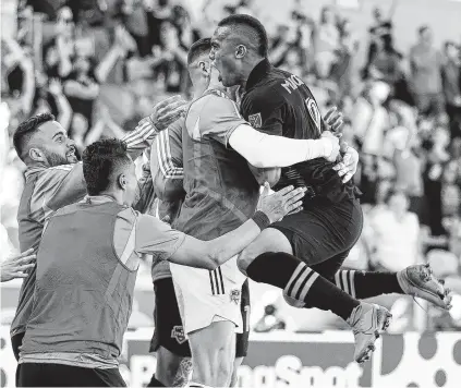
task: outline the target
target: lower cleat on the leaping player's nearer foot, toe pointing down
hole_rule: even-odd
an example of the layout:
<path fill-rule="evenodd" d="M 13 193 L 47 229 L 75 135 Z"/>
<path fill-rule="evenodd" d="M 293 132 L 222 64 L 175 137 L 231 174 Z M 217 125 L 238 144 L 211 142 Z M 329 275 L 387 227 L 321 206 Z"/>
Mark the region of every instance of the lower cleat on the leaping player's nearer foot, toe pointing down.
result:
<path fill-rule="evenodd" d="M 348 318 L 355 338 L 354 360 L 362 364 L 369 360 L 375 350 L 375 341 L 385 331 L 392 314 L 376 304 L 361 303 Z"/>

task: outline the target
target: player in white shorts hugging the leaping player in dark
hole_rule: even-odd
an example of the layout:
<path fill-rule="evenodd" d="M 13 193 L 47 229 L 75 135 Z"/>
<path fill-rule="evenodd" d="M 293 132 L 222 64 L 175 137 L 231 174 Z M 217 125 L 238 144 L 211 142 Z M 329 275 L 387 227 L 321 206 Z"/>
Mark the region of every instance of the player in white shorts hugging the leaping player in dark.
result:
<path fill-rule="evenodd" d="M 198 239 L 214 239 L 252 217 L 259 184 L 247 161 L 234 147 L 236 128 L 253 130 L 226 94 L 209 62 L 209 39 L 195 43 L 189 52 L 189 72 L 195 99 L 187 111 L 183 136 L 185 201 L 174 228 Z M 269 156 L 280 143 L 290 154 Z M 259 149 L 260 147 L 260 149 Z M 335 160 L 339 141 L 331 133 L 318 140 L 263 136 L 254 147 L 253 165 L 265 168 L 275 157 L 290 166 L 316 157 Z M 336 173 L 333 171 L 333 173 Z M 215 271 L 170 264 L 184 332 L 189 337 L 194 384 L 228 386 L 235 356 L 235 327 L 242 330 L 241 288 L 245 277 L 236 257 Z M 196 286 L 197 284 L 197 286 Z"/>

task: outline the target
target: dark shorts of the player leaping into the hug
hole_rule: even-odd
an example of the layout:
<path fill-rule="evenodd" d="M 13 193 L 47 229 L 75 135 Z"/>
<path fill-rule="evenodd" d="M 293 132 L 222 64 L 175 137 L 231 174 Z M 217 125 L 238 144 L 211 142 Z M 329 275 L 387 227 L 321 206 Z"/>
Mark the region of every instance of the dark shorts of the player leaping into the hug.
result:
<path fill-rule="evenodd" d="M 362 233 L 362 207 L 359 199 L 331 203 L 314 198 L 302 211 L 284 217 L 270 228 L 286 235 L 294 256 L 331 278 Z"/>

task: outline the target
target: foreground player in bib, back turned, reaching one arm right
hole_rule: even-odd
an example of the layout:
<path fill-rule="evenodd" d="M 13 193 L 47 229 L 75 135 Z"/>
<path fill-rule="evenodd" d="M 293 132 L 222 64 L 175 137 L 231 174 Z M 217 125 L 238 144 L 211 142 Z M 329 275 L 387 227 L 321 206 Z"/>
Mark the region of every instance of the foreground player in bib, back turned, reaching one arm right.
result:
<path fill-rule="evenodd" d="M 19 387 L 124 387 L 118 357 L 142 254 L 214 270 L 296 211 L 305 192 L 283 189 L 238 229 L 201 241 L 131 208 L 137 181 L 124 142 L 89 145 L 83 175 L 88 196 L 57 210 L 44 228 Z"/>

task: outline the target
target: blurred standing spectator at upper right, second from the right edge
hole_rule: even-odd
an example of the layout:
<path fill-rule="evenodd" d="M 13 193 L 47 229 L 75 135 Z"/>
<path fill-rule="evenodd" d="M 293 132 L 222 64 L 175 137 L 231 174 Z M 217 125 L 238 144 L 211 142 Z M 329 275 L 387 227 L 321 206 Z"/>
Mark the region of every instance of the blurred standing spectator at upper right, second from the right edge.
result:
<path fill-rule="evenodd" d="M 423 114 L 441 116 L 445 112 L 441 87 L 441 54 L 434 47 L 433 31 L 418 29 L 418 41 L 410 50 L 411 86 L 417 109 Z"/>

